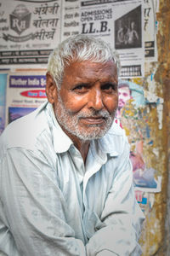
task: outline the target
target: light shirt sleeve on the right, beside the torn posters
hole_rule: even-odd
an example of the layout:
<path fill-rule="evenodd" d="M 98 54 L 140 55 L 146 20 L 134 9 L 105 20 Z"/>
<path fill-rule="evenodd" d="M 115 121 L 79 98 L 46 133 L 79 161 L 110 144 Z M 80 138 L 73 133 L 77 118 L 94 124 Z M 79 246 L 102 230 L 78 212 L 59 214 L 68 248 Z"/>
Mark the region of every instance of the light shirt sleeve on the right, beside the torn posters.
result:
<path fill-rule="evenodd" d="M 138 256 L 138 240 L 144 214 L 133 192 L 133 171 L 128 145 L 117 159 L 116 175 L 105 200 L 100 220 L 104 227 L 94 233 L 87 244 L 88 256 Z"/>

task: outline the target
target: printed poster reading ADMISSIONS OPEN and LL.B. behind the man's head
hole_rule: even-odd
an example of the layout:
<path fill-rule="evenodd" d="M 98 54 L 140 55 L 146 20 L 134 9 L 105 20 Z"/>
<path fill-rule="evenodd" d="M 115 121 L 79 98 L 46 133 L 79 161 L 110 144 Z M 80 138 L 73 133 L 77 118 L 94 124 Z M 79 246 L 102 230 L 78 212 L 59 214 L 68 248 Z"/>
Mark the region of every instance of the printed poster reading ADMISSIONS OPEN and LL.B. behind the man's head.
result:
<path fill-rule="evenodd" d="M 81 1 L 81 33 L 101 37 L 116 49 L 122 78 L 144 76 L 142 0 Z"/>

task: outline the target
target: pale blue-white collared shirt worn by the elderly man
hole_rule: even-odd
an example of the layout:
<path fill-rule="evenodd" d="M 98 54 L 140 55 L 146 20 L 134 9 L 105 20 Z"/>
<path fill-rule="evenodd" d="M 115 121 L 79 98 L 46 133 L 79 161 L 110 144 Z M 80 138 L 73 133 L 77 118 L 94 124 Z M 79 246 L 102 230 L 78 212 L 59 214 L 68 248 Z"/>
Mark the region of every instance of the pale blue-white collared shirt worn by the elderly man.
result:
<path fill-rule="evenodd" d="M 0 251 L 8 256 L 140 255 L 144 220 L 129 145 L 114 123 L 86 164 L 50 103 L 0 137 Z"/>

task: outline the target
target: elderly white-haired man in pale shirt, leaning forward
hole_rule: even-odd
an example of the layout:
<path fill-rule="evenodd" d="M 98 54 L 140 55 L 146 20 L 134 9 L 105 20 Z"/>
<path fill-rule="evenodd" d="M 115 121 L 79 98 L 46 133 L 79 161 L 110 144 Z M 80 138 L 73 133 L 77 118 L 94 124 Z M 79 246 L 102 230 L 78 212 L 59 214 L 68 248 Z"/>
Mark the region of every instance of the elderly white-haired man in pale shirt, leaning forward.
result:
<path fill-rule="evenodd" d="M 116 113 L 108 44 L 68 38 L 48 61 L 48 102 L 8 125 L 0 147 L 0 251 L 139 255 L 144 219 Z"/>

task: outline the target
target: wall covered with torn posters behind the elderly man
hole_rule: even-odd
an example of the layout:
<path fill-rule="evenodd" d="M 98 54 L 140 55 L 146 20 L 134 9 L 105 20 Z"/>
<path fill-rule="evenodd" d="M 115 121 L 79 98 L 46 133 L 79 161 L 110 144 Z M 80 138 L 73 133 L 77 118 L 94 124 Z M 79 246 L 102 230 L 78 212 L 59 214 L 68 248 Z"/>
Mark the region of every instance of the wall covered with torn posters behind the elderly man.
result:
<path fill-rule="evenodd" d="M 144 256 L 168 255 L 169 12 L 167 0 L 0 0 L 0 134 L 47 100 L 48 55 L 65 38 L 91 34 L 119 55 L 116 122 L 131 146 L 135 195 L 146 216 Z"/>

